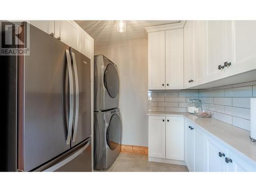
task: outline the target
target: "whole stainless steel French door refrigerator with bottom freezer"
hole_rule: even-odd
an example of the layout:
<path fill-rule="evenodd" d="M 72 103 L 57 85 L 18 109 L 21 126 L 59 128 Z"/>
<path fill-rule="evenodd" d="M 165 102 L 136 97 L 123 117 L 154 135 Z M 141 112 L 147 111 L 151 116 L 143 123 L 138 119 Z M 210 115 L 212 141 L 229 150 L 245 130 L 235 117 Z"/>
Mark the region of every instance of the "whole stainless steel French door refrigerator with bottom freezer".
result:
<path fill-rule="evenodd" d="M 29 38 L 30 54 L 1 55 L 1 170 L 92 171 L 90 59 L 26 22 L 15 28 L 2 40 Z"/>

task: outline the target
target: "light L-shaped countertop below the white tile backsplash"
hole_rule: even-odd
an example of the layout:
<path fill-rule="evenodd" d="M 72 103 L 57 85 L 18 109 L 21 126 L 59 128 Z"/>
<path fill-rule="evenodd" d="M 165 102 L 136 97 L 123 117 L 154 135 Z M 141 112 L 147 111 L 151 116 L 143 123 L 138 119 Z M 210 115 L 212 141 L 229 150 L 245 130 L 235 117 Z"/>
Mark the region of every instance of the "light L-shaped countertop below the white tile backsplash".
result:
<path fill-rule="evenodd" d="M 250 132 L 213 118 L 199 118 L 189 113 L 148 112 L 155 116 L 180 116 L 201 127 L 203 131 L 223 141 L 229 148 L 256 165 L 256 142 L 249 139 Z"/>

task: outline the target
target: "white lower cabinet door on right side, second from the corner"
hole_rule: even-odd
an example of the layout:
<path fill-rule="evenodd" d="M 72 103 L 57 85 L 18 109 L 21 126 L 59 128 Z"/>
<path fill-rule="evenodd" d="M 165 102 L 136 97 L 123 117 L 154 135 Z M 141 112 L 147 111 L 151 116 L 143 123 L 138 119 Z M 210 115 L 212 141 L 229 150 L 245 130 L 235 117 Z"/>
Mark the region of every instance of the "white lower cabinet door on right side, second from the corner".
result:
<path fill-rule="evenodd" d="M 205 167 L 204 133 L 195 127 L 195 172 L 204 172 Z"/>

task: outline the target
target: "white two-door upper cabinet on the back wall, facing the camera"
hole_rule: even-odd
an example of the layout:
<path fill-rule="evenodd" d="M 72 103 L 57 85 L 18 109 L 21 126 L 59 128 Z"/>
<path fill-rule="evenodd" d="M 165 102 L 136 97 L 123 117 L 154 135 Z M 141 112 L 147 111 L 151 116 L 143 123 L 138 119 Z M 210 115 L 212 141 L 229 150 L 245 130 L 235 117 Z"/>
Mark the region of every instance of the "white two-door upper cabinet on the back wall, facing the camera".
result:
<path fill-rule="evenodd" d="M 148 33 L 148 90 L 183 89 L 183 29 Z"/>

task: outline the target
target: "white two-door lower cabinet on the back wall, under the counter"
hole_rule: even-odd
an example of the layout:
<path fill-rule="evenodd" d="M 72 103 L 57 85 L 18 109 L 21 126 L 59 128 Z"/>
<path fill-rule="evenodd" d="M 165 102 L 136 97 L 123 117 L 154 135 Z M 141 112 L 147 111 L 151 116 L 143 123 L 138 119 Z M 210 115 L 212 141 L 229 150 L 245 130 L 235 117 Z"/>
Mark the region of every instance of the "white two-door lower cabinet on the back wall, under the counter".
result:
<path fill-rule="evenodd" d="M 153 161 L 182 164 L 184 161 L 184 118 L 148 116 L 148 157 Z M 166 160 L 166 161 L 165 161 Z M 183 163 L 184 164 L 184 163 Z"/>

